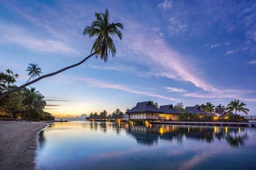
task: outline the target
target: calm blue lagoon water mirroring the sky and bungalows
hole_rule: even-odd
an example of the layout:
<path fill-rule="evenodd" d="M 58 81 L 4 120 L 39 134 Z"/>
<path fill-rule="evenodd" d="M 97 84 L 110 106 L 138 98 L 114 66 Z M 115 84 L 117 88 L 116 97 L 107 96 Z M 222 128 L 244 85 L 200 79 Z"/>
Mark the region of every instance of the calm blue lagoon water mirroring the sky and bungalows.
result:
<path fill-rule="evenodd" d="M 56 122 L 41 131 L 37 169 L 255 169 L 256 129 Z"/>

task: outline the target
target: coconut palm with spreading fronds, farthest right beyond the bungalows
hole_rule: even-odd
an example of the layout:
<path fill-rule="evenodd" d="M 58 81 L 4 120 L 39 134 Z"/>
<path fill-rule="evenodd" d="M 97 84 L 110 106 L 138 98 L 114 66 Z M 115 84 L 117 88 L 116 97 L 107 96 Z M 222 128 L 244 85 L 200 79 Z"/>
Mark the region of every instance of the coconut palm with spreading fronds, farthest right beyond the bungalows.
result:
<path fill-rule="evenodd" d="M 235 110 L 236 112 L 234 113 L 234 116 L 236 115 L 237 111 L 238 112 L 243 112 L 245 115 L 247 115 L 248 112 L 250 112 L 250 110 L 243 107 L 243 106 L 246 106 L 246 105 L 247 104 L 244 104 L 243 102 L 240 103 L 239 100 L 234 100 L 234 101 L 231 101 L 228 104 L 228 106 L 226 107 L 226 110 L 227 110 L 228 113 L 233 112 Z M 232 118 L 232 121 L 234 119 L 234 116 Z"/>

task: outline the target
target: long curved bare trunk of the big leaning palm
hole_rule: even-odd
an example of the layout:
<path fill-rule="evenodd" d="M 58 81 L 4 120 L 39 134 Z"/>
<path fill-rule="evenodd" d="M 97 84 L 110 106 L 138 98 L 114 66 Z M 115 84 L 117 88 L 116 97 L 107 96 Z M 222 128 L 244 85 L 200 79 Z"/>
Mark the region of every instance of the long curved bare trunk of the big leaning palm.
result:
<path fill-rule="evenodd" d="M 0 95 L 0 100 L 3 99 L 4 97 L 6 97 L 7 95 L 9 95 L 9 94 L 11 94 L 11 93 L 13 93 L 13 92 L 15 92 L 15 91 L 18 91 L 19 89 L 22 89 L 23 87 L 26 87 L 26 86 L 28 86 L 28 85 L 30 85 L 30 84 L 33 84 L 33 83 L 35 83 L 35 82 L 37 82 L 37 81 L 39 81 L 39 80 L 41 80 L 41 79 L 43 79 L 43 78 L 53 76 L 53 75 L 55 75 L 55 74 L 58 74 L 58 73 L 60 73 L 60 72 L 62 72 L 62 71 L 65 71 L 65 70 L 67 70 L 67 69 L 73 68 L 73 67 L 75 67 L 75 66 L 79 66 L 80 64 L 84 63 L 88 58 L 90 58 L 90 57 L 93 56 L 94 54 L 98 53 L 100 50 L 101 50 L 101 48 L 98 49 L 96 52 L 91 53 L 90 55 L 88 55 L 84 60 L 82 60 L 82 61 L 79 62 L 79 63 L 76 63 L 76 64 L 73 64 L 73 65 L 71 65 L 71 66 L 65 67 L 65 68 L 63 68 L 63 69 L 61 69 L 61 70 L 59 70 L 59 71 L 56 71 L 56 72 L 43 75 L 43 76 L 41 76 L 41 77 L 39 77 L 39 78 L 37 78 L 37 79 L 35 79 L 35 80 L 29 82 L 29 83 L 23 84 L 23 85 L 21 85 L 21 86 L 19 86 L 19 87 L 17 87 L 17 88 L 14 88 L 14 89 L 12 89 L 12 90 L 10 90 L 10 91 L 7 91 L 7 92 L 5 92 L 4 94 Z"/>

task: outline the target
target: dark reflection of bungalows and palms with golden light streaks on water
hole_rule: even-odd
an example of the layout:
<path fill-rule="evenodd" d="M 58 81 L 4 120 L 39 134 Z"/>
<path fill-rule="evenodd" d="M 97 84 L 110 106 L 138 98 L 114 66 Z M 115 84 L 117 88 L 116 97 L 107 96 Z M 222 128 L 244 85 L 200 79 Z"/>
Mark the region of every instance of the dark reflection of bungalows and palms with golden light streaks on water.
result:
<path fill-rule="evenodd" d="M 246 128 L 229 128 L 227 126 L 191 126 L 191 125 L 159 125 L 159 124 L 123 124 L 123 128 L 128 134 L 135 137 L 138 143 L 153 145 L 159 139 L 182 142 L 184 137 L 205 140 L 225 139 L 232 147 L 239 147 L 244 144 L 247 138 Z M 230 130 L 229 130 L 230 129 Z"/>

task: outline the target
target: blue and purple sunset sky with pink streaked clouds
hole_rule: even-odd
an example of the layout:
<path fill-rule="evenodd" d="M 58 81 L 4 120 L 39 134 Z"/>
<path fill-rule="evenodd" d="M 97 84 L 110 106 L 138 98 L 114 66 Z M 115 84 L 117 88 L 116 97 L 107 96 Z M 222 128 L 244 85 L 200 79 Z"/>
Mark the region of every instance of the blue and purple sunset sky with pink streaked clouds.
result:
<path fill-rule="evenodd" d="M 45 111 L 76 118 L 149 100 L 227 106 L 239 99 L 256 115 L 253 0 L 0 0 L 0 71 L 18 73 L 22 85 L 29 63 L 43 75 L 80 62 L 95 39 L 83 29 L 106 8 L 111 22 L 124 25 L 116 56 L 106 63 L 91 57 L 32 84 L 45 96 Z"/>

